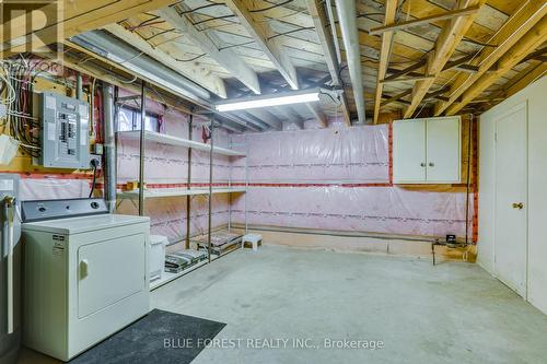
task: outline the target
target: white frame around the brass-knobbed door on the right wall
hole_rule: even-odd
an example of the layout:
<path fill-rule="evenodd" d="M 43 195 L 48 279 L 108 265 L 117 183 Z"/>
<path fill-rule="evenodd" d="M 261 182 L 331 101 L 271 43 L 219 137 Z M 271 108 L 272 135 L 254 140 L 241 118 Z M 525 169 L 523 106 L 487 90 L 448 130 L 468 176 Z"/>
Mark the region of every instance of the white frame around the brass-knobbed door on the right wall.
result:
<path fill-rule="evenodd" d="M 511 114 L 515 114 L 520 109 L 524 109 L 525 114 L 525 121 L 524 121 L 524 150 L 525 150 L 525 156 L 526 156 L 526 164 L 524 166 L 525 168 L 525 174 L 524 174 L 524 213 L 525 213 L 525 230 L 524 230 L 524 244 L 525 244 L 525 267 L 524 267 L 524 300 L 528 300 L 528 101 L 525 99 L 515 106 L 509 108 L 508 110 L 501 113 L 499 116 L 494 118 L 494 157 L 493 157 L 493 171 L 494 171 L 494 186 L 493 186 L 493 275 L 503 284 L 509 286 L 512 291 L 515 291 L 510 284 L 508 284 L 503 279 L 501 279 L 498 274 L 498 266 L 497 266 L 497 260 L 496 260 L 496 253 L 497 253 L 497 245 L 498 245 L 498 216 L 497 216 L 497 211 L 498 211 L 498 203 L 497 203 L 497 196 L 498 196 L 498 174 L 497 174 L 497 166 L 498 166 L 498 122 L 497 120 L 504 118 Z M 516 292 L 519 294 L 519 292 Z"/>

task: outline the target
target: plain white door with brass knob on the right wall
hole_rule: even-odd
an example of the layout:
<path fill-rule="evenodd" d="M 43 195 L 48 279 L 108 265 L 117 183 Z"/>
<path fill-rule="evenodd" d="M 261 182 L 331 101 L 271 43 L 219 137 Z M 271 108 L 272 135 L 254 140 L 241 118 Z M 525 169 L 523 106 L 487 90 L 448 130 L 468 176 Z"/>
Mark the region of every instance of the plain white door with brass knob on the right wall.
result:
<path fill-rule="evenodd" d="M 499 280 L 526 297 L 526 103 L 500 115 L 494 125 L 494 271 Z"/>

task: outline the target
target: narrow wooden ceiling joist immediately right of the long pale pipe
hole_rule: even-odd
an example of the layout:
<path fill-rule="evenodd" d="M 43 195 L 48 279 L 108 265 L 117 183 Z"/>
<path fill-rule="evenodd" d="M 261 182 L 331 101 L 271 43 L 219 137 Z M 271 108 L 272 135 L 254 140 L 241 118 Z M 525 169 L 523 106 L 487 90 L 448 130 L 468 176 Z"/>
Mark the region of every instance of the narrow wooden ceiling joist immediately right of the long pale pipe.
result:
<path fill-rule="evenodd" d="M 385 26 L 392 25 L 395 22 L 395 15 L 397 14 L 397 3 L 398 0 L 386 0 L 385 15 L 384 15 Z M 380 107 L 382 105 L 382 92 L 384 90 L 383 81 L 385 81 L 384 80 L 385 73 L 387 72 L 387 66 L 389 64 L 392 42 L 393 42 L 393 32 L 388 31 L 382 34 L 382 45 L 380 46 L 380 63 L 377 68 L 377 78 L 376 78 L 376 94 L 374 96 L 374 117 L 373 117 L 374 124 L 377 124 L 377 119 L 380 116 Z"/>

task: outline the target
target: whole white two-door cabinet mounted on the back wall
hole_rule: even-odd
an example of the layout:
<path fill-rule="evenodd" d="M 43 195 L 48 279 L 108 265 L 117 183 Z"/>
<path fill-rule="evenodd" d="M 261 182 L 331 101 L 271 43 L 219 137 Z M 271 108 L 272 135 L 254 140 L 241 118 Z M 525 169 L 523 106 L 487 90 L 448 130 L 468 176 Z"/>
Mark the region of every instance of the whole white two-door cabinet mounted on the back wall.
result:
<path fill-rule="evenodd" d="M 462 172 L 458 116 L 393 122 L 395 184 L 457 184 Z"/>

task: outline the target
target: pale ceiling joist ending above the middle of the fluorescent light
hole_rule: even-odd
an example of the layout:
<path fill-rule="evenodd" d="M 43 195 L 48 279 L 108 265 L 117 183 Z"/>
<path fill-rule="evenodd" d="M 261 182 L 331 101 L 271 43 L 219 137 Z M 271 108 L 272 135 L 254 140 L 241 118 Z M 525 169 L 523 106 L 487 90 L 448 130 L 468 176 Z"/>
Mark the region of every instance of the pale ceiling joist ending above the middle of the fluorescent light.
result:
<path fill-rule="evenodd" d="M 179 15 L 174 7 L 159 10 L 156 13 L 255 94 L 260 94 L 260 84 L 256 72 L 232 49 L 219 49 L 217 44 L 220 44 L 220 40 L 216 39 L 212 32 L 199 32 L 188 19 Z M 217 44 L 213 42 L 214 39 Z"/>

